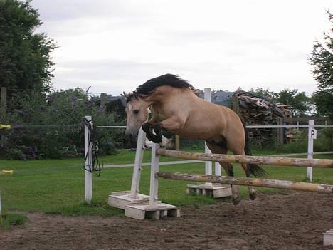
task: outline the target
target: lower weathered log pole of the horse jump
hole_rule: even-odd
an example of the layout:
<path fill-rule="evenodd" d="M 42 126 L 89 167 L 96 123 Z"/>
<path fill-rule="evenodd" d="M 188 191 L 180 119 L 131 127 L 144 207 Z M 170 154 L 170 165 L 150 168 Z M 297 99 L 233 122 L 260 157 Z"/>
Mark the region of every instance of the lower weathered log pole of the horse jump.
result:
<path fill-rule="evenodd" d="M 222 184 L 236 184 L 240 186 L 273 187 L 308 192 L 333 193 L 333 185 L 307 182 L 291 182 L 279 179 L 258 179 L 245 177 L 225 177 L 215 175 L 191 175 L 184 173 L 157 172 L 158 177 L 164 179 L 188 180 L 194 182 L 213 182 Z"/>

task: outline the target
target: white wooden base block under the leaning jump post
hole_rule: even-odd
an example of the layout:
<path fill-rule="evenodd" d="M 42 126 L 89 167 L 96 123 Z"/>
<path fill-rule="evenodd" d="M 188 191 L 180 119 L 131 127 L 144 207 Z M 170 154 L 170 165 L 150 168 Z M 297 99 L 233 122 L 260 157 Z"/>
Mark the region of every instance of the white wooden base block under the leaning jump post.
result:
<path fill-rule="evenodd" d="M 130 191 L 113 192 L 109 195 L 107 203 L 112 207 L 125 210 L 128 205 L 148 204 L 149 195 L 137 194 L 137 198 L 129 197 Z"/>

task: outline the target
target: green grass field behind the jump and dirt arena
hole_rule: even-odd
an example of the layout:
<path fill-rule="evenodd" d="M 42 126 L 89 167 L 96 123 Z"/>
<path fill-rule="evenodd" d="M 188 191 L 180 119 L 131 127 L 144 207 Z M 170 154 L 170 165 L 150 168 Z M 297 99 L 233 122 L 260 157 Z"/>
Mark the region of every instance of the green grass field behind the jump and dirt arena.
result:
<path fill-rule="evenodd" d="M 273 153 L 273 152 L 272 152 Z M 117 155 L 102 157 L 105 165 L 134 162 L 134 152 L 120 152 Z M 258 152 L 255 152 L 259 155 Z M 267 152 L 265 152 L 267 154 Z M 318 155 L 318 158 L 333 159 L 333 155 Z M 176 160 L 161 157 L 161 161 Z M 150 151 L 144 155 L 144 162 L 150 161 Z M 306 180 L 306 167 L 263 166 L 270 179 Z M 111 192 L 129 190 L 132 181 L 132 167 L 108 168 L 100 177 L 93 177 L 93 204 L 84 202 L 83 159 L 65 160 L 0 160 L 0 169 L 14 170 L 14 175 L 0 175 L 0 191 L 3 209 L 20 212 L 48 212 L 63 215 L 100 214 L 112 216 L 123 214 L 119 209 L 107 206 L 107 196 Z M 164 165 L 161 171 L 204 172 L 204 164 Z M 240 165 L 234 164 L 236 176 L 245 176 Z M 333 184 L 332 169 L 314 169 L 314 182 Z M 159 198 L 169 204 L 200 205 L 218 201 L 208 197 L 185 194 L 189 182 L 160 179 Z M 258 188 L 259 192 L 284 192 L 280 189 Z M 141 193 L 149 194 L 149 167 L 142 170 Z M 240 188 L 240 194 L 248 199 L 248 189 Z"/>

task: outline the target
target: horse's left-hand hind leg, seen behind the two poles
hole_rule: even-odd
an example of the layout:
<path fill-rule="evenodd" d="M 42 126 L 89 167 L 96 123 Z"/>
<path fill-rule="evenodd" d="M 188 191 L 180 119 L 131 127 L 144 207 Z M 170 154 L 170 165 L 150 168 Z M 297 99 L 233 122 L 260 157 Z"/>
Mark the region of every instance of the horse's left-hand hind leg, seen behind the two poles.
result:
<path fill-rule="evenodd" d="M 213 154 L 226 154 L 228 152 L 226 147 L 223 147 L 223 145 L 220 145 L 216 142 L 208 142 L 206 141 L 207 147 L 211 150 Z M 233 165 L 226 162 L 219 162 L 223 169 L 226 171 L 226 174 L 228 176 L 233 177 Z M 239 197 L 239 189 L 236 185 L 231 185 L 231 192 L 233 194 L 233 204 L 237 205 L 240 202 Z"/>

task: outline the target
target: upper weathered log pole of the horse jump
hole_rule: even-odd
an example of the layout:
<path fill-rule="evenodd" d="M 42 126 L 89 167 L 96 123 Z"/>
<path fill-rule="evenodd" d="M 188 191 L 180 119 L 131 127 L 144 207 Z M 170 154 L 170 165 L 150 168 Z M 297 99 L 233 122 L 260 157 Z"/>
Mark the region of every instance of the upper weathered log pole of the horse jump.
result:
<path fill-rule="evenodd" d="M 287 158 L 287 157 L 268 157 L 268 156 L 252 156 L 252 155 L 220 155 L 220 154 L 204 154 L 192 153 L 176 150 L 157 150 L 159 155 L 168 157 L 176 157 L 186 160 L 210 160 L 215 162 L 238 162 L 238 163 L 253 163 L 263 165 L 280 165 L 292 167 L 329 167 L 333 168 L 333 160 L 327 159 L 302 159 L 302 158 Z"/>

